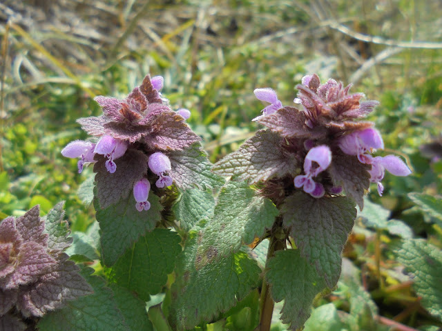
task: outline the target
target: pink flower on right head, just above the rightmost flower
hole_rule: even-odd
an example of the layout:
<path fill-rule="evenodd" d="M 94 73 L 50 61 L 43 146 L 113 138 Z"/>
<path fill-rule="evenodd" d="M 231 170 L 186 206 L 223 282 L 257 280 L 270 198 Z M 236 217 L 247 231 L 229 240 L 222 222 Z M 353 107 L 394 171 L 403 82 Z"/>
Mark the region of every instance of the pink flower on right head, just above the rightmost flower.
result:
<path fill-rule="evenodd" d="M 381 134 L 374 128 L 352 132 L 339 139 L 339 147 L 349 155 L 357 155 L 361 163 L 372 163 L 371 153 L 373 149 L 384 148 Z"/>

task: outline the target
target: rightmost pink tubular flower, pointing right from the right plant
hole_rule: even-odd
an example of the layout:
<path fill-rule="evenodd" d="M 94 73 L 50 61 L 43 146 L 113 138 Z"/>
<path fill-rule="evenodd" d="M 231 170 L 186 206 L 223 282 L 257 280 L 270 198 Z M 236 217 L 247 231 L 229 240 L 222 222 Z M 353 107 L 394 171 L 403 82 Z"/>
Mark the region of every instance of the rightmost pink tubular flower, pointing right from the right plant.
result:
<path fill-rule="evenodd" d="M 395 176 L 408 176 L 411 174 L 410 168 L 398 157 L 387 155 L 386 157 L 374 157 L 372 159 L 372 170 L 369 170 L 370 181 L 378 184 L 378 194 L 382 197 L 384 187 L 381 183 L 385 175 L 385 169 Z"/>

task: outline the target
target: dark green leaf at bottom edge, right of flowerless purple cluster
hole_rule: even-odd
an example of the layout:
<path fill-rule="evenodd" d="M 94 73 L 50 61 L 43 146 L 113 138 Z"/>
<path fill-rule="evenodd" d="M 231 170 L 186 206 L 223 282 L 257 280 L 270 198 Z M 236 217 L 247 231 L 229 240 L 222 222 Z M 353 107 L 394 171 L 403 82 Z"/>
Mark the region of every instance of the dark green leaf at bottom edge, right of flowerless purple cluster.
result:
<path fill-rule="evenodd" d="M 46 314 L 37 324 L 40 331 L 128 331 L 122 312 L 117 308 L 113 292 L 104 280 L 92 276 L 93 269 L 84 268 L 81 275 L 93 287 L 93 294 L 68 301 L 66 307 Z"/>

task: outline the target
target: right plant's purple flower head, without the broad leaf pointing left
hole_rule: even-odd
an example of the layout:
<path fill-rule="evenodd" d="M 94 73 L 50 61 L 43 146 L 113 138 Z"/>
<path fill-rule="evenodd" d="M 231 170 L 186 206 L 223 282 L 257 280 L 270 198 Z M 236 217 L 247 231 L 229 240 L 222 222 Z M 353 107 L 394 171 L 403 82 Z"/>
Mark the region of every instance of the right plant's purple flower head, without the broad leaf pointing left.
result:
<path fill-rule="evenodd" d="M 301 109 L 282 106 L 269 88 L 254 91 L 258 99 L 271 103 L 255 120 L 284 137 L 281 148 L 303 161 L 305 174 L 294 177 L 296 188 L 320 198 L 343 187 L 361 205 L 367 179 L 377 183 L 382 195 L 385 169 L 396 176 L 411 173 L 394 155 L 373 157 L 372 152 L 384 147 L 381 134 L 373 123 L 355 121 L 372 112 L 377 101 L 361 101 L 362 93 L 349 94 L 351 85 L 344 87 L 334 79 L 320 84 L 316 74 L 303 77 L 296 87 L 294 103 Z"/>

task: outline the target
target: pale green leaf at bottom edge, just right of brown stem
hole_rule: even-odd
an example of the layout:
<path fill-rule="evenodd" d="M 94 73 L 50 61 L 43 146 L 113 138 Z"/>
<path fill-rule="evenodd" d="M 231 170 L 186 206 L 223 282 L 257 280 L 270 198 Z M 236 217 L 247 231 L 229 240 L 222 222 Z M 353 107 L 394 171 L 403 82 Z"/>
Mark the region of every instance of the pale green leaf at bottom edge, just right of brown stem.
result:
<path fill-rule="evenodd" d="M 350 330 L 349 325 L 340 320 L 333 303 L 316 308 L 305 323 L 304 331 L 341 331 Z"/>

